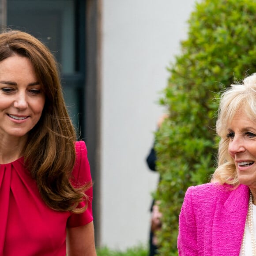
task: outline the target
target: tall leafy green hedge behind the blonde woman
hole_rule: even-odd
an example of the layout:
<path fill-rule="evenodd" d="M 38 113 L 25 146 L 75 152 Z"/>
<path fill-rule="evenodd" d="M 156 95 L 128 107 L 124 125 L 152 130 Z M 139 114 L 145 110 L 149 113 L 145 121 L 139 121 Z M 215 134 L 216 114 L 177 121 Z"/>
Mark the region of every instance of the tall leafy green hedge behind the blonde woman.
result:
<path fill-rule="evenodd" d="M 218 92 L 256 72 L 256 1 L 204 0 L 196 3 L 188 24 L 188 39 L 181 42 L 160 99 L 169 118 L 156 133 L 162 256 L 177 254 L 186 189 L 208 182 L 215 169 Z"/>

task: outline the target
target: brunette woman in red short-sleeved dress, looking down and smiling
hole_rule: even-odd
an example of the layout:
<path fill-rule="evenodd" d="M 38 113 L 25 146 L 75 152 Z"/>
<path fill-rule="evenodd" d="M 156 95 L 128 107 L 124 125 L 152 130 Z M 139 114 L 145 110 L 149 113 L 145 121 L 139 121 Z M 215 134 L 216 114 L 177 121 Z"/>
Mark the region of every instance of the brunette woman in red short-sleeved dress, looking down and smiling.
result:
<path fill-rule="evenodd" d="M 0 34 L 0 255 L 95 256 L 87 149 L 38 39 Z"/>

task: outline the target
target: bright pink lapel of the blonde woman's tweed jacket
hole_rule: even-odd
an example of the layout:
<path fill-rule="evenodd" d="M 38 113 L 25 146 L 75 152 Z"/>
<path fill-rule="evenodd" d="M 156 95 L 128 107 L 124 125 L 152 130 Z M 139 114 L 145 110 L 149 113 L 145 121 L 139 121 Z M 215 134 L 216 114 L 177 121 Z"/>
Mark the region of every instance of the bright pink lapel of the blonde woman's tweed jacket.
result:
<path fill-rule="evenodd" d="M 212 255 L 238 256 L 248 211 L 249 188 L 239 185 L 227 200 L 218 200 L 212 228 Z"/>

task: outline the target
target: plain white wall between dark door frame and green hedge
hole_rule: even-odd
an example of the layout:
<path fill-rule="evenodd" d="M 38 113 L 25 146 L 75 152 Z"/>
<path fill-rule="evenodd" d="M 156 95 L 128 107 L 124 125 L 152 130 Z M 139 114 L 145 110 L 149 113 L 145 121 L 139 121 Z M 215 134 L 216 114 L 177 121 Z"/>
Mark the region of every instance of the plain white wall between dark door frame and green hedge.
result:
<path fill-rule="evenodd" d="M 194 2 L 103 0 L 101 240 L 110 248 L 147 244 L 158 174 L 145 158 Z"/>

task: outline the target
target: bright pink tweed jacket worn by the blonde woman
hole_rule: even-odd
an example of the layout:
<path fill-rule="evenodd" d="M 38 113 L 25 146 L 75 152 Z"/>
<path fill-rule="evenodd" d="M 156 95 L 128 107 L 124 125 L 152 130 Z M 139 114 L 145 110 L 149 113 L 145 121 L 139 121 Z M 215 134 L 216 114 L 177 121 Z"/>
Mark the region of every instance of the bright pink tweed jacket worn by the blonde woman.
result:
<path fill-rule="evenodd" d="M 188 188 L 179 218 L 180 256 L 239 256 L 249 188 L 207 183 Z"/>

